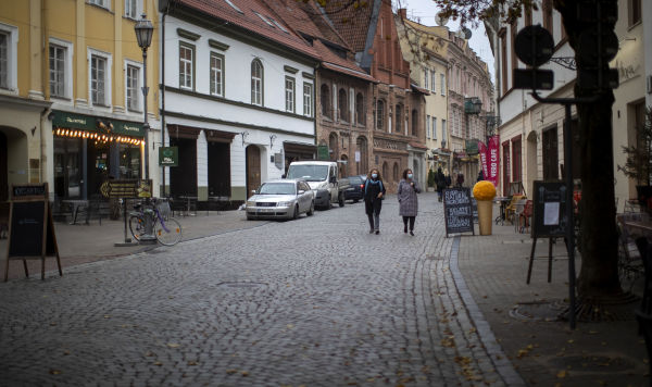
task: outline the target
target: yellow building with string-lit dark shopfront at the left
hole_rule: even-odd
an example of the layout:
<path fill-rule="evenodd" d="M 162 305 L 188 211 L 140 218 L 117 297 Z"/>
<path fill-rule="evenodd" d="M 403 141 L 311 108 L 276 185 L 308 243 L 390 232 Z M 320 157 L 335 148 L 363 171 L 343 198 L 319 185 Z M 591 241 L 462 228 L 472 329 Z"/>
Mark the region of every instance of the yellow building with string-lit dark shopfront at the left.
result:
<path fill-rule="evenodd" d="M 55 199 L 89 199 L 108 178 L 143 177 L 145 66 L 134 26 L 143 12 L 154 25 L 147 80 L 156 85 L 155 3 L 0 0 L 0 201 L 12 184 L 47 182 Z M 148 143 L 159 127 L 155 91 Z"/>

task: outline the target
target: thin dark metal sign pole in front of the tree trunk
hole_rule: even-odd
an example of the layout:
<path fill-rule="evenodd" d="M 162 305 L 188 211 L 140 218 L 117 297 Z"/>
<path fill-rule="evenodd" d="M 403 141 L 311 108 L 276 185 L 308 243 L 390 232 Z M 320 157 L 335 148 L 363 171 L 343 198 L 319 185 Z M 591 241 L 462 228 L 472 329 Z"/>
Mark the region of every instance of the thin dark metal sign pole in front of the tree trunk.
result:
<path fill-rule="evenodd" d="M 573 220 L 573 134 L 570 133 L 570 103 L 565 103 L 566 118 L 564 121 L 564 173 L 566 174 L 566 241 L 568 249 L 568 300 L 570 310 L 568 321 L 570 329 L 575 329 L 575 222 Z"/>

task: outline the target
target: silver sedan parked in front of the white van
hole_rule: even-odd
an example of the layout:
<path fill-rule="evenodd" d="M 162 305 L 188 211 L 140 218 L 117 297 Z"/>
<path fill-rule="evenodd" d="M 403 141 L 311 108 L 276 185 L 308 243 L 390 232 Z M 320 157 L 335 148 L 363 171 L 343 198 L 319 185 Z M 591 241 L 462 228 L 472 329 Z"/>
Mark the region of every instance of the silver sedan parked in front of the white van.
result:
<path fill-rule="evenodd" d="M 297 219 L 315 212 L 314 194 L 302 179 L 278 179 L 263 183 L 254 195 L 247 199 L 247 220 Z"/>

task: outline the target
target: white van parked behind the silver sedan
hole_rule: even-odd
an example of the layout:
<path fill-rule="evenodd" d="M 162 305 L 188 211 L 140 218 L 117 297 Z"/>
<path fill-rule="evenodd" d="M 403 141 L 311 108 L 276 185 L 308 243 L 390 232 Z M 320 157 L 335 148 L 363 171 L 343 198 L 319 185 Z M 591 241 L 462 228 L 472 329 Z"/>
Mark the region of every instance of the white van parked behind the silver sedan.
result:
<path fill-rule="evenodd" d="M 313 189 L 315 205 L 330 209 L 334 203 L 344 207 L 344 191 L 349 179 L 338 176 L 335 161 L 293 161 L 288 167 L 288 178 L 302 178 Z"/>

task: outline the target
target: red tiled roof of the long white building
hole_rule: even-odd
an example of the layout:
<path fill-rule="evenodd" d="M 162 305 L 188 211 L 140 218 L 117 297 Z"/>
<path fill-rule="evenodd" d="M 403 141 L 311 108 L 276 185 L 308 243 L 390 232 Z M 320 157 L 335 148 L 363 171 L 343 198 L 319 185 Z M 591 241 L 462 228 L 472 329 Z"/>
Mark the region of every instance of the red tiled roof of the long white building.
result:
<path fill-rule="evenodd" d="M 305 55 L 317 53 L 292 28 L 258 0 L 177 0 L 179 4 L 221 18 Z M 233 5 L 230 5 L 233 4 Z"/>

